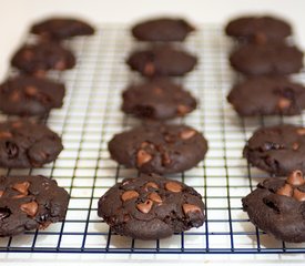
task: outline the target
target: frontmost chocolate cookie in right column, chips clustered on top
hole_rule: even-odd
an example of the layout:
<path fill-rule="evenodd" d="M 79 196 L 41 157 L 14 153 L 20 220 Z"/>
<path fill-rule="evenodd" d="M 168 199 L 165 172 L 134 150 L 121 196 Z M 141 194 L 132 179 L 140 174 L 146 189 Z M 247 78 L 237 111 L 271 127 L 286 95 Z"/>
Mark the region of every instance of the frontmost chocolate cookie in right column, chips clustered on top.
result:
<path fill-rule="evenodd" d="M 305 181 L 301 171 L 286 180 L 267 178 L 242 200 L 260 229 L 285 242 L 305 242 Z"/>

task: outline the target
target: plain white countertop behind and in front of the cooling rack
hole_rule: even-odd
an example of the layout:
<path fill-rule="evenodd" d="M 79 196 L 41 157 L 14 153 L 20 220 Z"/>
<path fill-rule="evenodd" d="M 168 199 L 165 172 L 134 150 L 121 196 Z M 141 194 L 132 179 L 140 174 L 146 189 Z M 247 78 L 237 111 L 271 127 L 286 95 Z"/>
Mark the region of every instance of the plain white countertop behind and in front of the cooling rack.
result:
<path fill-rule="evenodd" d="M 9 66 L 13 51 L 22 43 L 28 27 L 51 14 L 82 17 L 93 24 L 134 23 L 159 14 L 177 14 L 196 23 L 225 23 L 238 13 L 274 13 L 292 22 L 298 45 L 305 47 L 304 0 L 10 0 L 1 7 L 0 78 Z M 301 264 L 303 255 L 118 255 L 118 254 L 0 254 L 1 265 L 159 265 L 213 264 Z M 31 264 L 29 263 L 31 262 Z"/>

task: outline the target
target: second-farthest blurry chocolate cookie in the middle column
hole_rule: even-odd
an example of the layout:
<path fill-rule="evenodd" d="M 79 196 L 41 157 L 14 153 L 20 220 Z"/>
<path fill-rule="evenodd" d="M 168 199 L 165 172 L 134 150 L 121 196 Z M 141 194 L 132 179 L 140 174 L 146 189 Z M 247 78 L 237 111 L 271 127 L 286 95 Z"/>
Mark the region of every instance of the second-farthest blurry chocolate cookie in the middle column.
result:
<path fill-rule="evenodd" d="M 195 57 L 169 45 L 135 51 L 126 61 L 132 70 L 145 76 L 183 75 L 192 71 L 196 62 Z"/>

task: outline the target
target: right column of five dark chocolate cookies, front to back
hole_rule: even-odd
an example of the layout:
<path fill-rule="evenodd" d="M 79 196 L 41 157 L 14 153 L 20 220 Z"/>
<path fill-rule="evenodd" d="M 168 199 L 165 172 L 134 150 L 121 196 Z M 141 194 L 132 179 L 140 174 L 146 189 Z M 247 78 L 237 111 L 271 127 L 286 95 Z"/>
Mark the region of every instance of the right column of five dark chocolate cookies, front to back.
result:
<path fill-rule="evenodd" d="M 251 78 L 232 89 L 227 100 L 240 115 L 302 113 L 305 88 L 281 76 L 302 68 L 302 52 L 284 43 L 291 32 L 285 21 L 271 17 L 241 18 L 227 24 L 226 33 L 244 42 L 231 55 L 233 68 L 252 75 L 277 74 Z M 243 209 L 260 229 L 285 242 L 305 241 L 304 144 L 304 127 L 276 125 L 254 132 L 243 152 L 250 164 L 273 175 L 242 198 Z"/>

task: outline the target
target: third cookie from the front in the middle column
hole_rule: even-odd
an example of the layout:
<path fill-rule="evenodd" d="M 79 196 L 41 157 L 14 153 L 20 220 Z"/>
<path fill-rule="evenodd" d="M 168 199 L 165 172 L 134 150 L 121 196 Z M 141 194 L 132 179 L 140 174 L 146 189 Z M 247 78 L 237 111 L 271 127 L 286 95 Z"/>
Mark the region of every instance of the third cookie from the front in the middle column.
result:
<path fill-rule="evenodd" d="M 166 120 L 184 116 L 196 108 L 196 100 L 166 78 L 130 85 L 123 92 L 122 110 L 140 119 Z"/>

